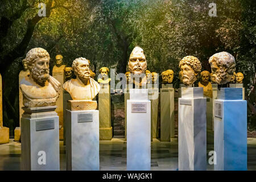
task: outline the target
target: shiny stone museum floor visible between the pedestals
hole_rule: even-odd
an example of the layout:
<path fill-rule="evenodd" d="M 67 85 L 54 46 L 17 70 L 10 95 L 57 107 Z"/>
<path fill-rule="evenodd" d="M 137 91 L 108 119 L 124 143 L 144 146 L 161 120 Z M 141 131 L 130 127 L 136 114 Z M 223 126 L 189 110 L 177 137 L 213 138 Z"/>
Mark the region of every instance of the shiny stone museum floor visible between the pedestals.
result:
<path fill-rule="evenodd" d="M 173 142 L 151 142 L 151 170 L 177 170 L 177 139 Z M 207 151 L 213 150 L 213 144 L 207 145 Z M 20 170 L 20 143 L 10 140 L 0 144 L 0 171 Z M 247 139 L 247 168 L 256 171 L 256 138 Z M 209 158 L 209 156 L 207 156 Z M 60 170 L 65 170 L 65 146 L 60 142 Z M 207 167 L 213 170 L 213 165 Z M 100 170 L 126 170 L 126 142 L 113 138 L 111 141 L 100 141 Z"/>

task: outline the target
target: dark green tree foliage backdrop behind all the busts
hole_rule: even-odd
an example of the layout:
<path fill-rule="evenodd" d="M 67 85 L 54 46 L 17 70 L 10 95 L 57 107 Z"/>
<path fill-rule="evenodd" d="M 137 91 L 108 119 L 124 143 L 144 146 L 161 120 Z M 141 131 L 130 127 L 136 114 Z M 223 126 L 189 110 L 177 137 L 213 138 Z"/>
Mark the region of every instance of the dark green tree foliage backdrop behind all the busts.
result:
<path fill-rule="evenodd" d="M 24 51 L 6 59 L 16 47 L 20 48 L 30 26 L 28 22 L 38 13 L 40 2 L 51 2 L 50 14 L 36 22 L 32 36 L 26 37 Z M 216 17 L 208 15 L 212 2 L 217 5 Z M 176 87 L 178 63 L 184 56 L 198 57 L 203 70 L 210 71 L 210 56 L 221 51 L 231 53 L 236 58 L 236 72 L 245 76 L 249 129 L 256 127 L 254 1 L 3 0 L 0 4 L 5 126 L 19 125 L 18 86 L 14 85 L 18 85 L 21 61 L 31 48 L 47 49 L 51 68 L 57 54 L 63 55 L 69 66 L 77 57 L 86 57 L 97 76 L 101 67 L 124 73 L 131 50 L 140 46 L 151 72 L 174 70 Z M 10 26 L 3 20 L 11 22 Z"/>

